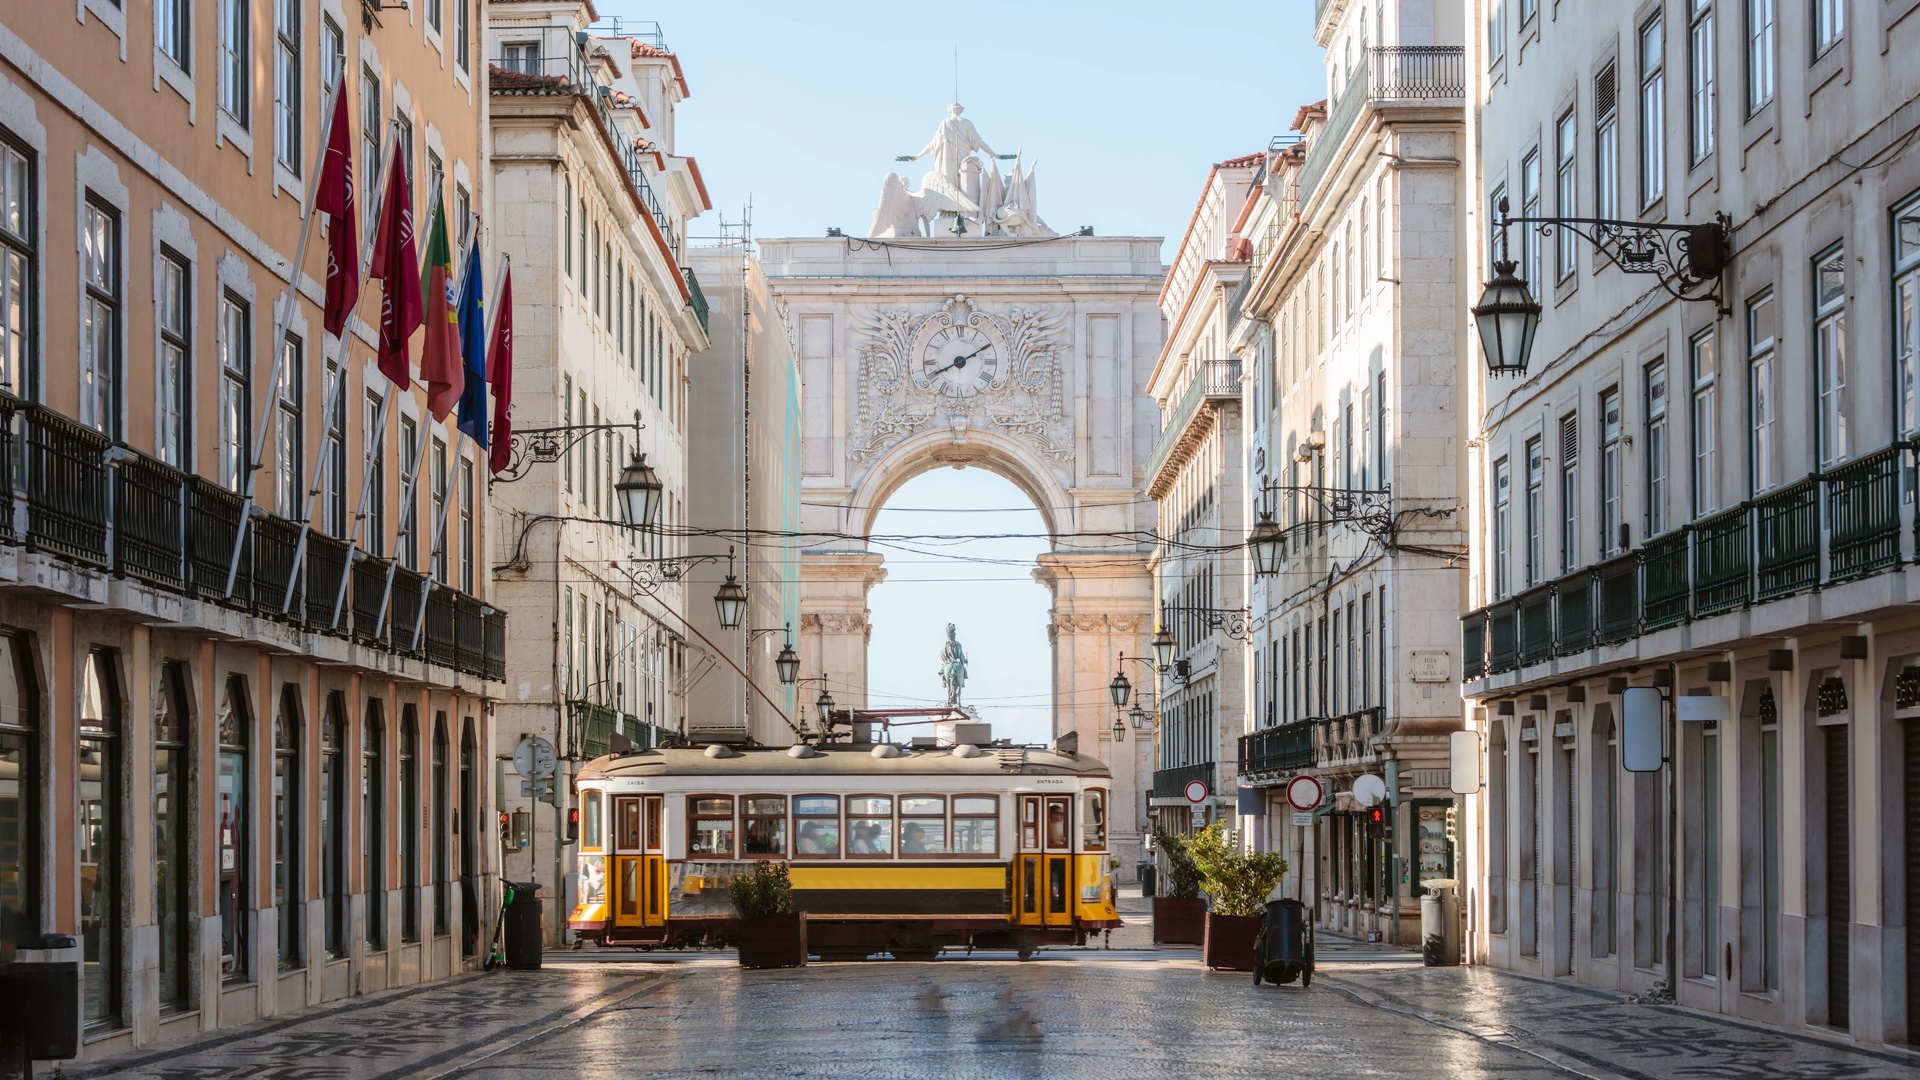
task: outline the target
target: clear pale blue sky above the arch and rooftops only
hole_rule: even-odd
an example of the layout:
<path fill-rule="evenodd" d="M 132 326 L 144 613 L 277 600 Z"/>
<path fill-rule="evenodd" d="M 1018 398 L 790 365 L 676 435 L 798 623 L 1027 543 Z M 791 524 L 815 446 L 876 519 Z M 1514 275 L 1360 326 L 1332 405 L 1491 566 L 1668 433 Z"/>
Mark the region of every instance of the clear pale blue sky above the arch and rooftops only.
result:
<path fill-rule="evenodd" d="M 1000 154 L 1039 161 L 1066 233 L 1165 236 L 1171 258 L 1213 161 L 1281 135 L 1325 94 L 1308 0 L 970 4 L 597 0 L 659 19 L 693 96 L 678 150 L 714 211 L 753 198 L 756 236 L 864 234 L 879 181 L 908 169 L 954 96 Z M 693 233 L 712 233 L 712 219 Z"/>

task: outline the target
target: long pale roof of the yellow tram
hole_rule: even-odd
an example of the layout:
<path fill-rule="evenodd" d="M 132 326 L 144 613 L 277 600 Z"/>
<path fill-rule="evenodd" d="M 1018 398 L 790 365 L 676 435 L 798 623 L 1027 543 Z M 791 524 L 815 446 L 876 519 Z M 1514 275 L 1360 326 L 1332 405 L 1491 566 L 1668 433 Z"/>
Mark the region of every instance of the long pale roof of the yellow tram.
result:
<path fill-rule="evenodd" d="M 728 757 L 705 748 L 653 748 L 595 757 L 580 780 L 618 776 L 1112 776 L 1106 763 L 1085 753 L 1066 755 L 1031 746 L 983 746 L 972 757 L 950 749 L 906 749 L 876 757 L 874 744 L 814 746 L 810 757 L 791 757 L 785 746 L 732 746 Z"/>

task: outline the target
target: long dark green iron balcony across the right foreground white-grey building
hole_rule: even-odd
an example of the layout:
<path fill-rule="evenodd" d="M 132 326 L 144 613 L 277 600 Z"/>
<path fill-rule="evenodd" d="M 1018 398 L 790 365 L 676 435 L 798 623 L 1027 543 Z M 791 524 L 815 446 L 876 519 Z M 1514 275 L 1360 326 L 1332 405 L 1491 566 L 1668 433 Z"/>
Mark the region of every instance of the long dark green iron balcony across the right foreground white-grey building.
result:
<path fill-rule="evenodd" d="M 1899 567 L 1901 455 L 1914 450 L 1895 442 L 1469 611 L 1465 680 Z M 1920 548 L 1920 532 L 1914 542 Z M 1553 626 L 1549 650 L 1540 648 L 1542 621 Z"/>

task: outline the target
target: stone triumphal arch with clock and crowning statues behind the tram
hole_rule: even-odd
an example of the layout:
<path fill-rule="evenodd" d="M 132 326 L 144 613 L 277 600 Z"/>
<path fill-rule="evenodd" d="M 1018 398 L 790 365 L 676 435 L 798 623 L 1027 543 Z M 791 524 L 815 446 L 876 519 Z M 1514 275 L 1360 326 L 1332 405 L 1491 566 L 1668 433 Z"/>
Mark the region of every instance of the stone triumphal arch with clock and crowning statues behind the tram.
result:
<path fill-rule="evenodd" d="M 864 538 L 889 494 L 939 467 L 1008 479 L 1052 538 L 1033 577 L 1052 594 L 1054 734 L 1112 765 L 1131 859 L 1152 738 L 1114 744 L 1106 682 L 1154 632 L 1142 488 L 1160 409 L 1142 388 L 1162 348 L 1160 238 L 1056 234 L 1031 165 L 1000 175 L 972 125 L 933 154 L 950 127 L 918 192 L 887 177 L 874 238 L 758 242 L 801 363 L 803 669 L 866 703 L 866 598 L 887 571 Z M 1148 692 L 1142 676 L 1129 671 Z"/>

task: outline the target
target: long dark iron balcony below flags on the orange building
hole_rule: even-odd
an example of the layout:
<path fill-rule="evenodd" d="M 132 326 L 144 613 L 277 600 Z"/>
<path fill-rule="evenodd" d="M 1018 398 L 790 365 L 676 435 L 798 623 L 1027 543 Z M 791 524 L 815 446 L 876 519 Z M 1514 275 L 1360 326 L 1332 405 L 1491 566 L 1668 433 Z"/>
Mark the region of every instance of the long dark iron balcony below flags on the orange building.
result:
<path fill-rule="evenodd" d="M 6 503 L 0 544 L 313 634 L 413 653 L 420 575 L 394 573 L 386 625 L 376 626 L 386 561 L 361 553 L 348 573 L 344 540 L 313 530 L 301 540 L 300 523 L 259 507 L 248 519 L 246 500 L 213 480 L 6 394 L 0 394 L 0 477 L 12 477 L 0 482 Z M 234 563 L 242 521 L 250 525 Z M 440 623 L 428 619 L 422 644 L 430 659 L 501 678 L 505 615 L 455 590 L 436 588 L 430 596 L 440 598 L 442 611 L 451 611 Z M 428 615 L 434 611 L 430 601 Z"/>

